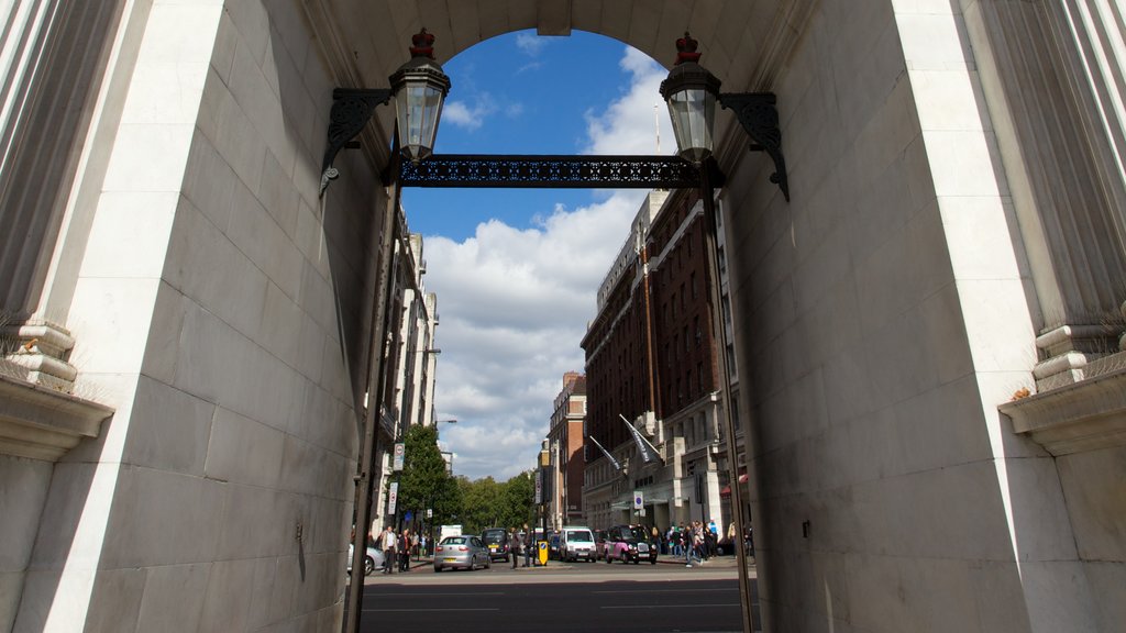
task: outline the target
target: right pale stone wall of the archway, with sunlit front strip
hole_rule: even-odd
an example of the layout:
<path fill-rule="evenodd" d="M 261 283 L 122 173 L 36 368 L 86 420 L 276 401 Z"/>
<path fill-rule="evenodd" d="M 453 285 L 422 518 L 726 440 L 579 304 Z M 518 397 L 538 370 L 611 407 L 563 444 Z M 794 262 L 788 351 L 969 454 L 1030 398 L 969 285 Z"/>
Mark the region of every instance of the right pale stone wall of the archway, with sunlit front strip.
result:
<path fill-rule="evenodd" d="M 775 632 L 1089 630 L 1055 471 L 995 409 L 1034 332 L 963 34 L 946 1 L 820 3 L 774 87 L 793 202 L 730 175 Z"/>

